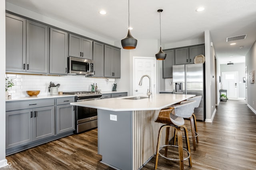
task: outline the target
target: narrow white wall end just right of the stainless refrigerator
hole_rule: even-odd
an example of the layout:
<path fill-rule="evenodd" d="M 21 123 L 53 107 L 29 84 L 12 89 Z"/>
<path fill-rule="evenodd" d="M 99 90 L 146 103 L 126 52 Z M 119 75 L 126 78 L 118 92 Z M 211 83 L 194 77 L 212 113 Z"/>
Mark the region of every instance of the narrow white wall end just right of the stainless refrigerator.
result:
<path fill-rule="evenodd" d="M 215 61 L 214 46 L 211 46 L 212 37 L 209 30 L 204 31 L 205 37 L 205 85 L 206 85 L 206 121 L 211 122 L 216 112 L 215 104 Z"/>

